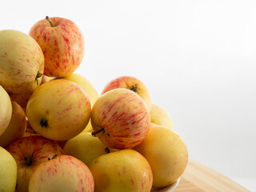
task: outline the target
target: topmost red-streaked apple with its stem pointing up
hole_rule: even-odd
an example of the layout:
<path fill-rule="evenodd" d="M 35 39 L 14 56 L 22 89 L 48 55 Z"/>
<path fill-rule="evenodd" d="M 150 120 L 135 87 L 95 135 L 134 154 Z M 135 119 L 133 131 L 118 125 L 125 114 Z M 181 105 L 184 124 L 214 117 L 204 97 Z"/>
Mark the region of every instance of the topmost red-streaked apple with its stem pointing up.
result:
<path fill-rule="evenodd" d="M 85 50 L 82 32 L 69 19 L 46 17 L 36 22 L 29 34 L 42 48 L 47 76 L 72 74 L 82 62 Z"/>

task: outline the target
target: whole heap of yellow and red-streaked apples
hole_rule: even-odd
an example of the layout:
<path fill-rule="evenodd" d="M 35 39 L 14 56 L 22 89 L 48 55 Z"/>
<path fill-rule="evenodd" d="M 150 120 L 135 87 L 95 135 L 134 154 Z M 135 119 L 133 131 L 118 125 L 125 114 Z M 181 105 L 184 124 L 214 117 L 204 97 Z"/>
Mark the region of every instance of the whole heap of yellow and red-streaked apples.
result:
<path fill-rule="evenodd" d="M 0 31 L 0 191 L 150 192 L 184 172 L 167 111 L 130 76 L 99 96 L 74 74 L 84 47 L 66 18 Z"/>

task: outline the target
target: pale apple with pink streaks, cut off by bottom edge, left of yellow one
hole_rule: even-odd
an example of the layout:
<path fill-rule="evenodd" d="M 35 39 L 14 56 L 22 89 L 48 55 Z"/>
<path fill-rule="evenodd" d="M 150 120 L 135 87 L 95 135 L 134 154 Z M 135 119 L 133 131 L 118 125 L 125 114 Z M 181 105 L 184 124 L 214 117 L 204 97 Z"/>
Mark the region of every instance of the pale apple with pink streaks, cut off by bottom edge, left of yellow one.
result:
<path fill-rule="evenodd" d="M 30 178 L 30 192 L 94 192 L 94 178 L 89 168 L 70 155 L 42 163 Z"/>

